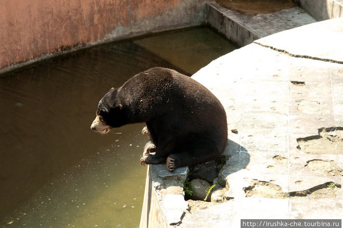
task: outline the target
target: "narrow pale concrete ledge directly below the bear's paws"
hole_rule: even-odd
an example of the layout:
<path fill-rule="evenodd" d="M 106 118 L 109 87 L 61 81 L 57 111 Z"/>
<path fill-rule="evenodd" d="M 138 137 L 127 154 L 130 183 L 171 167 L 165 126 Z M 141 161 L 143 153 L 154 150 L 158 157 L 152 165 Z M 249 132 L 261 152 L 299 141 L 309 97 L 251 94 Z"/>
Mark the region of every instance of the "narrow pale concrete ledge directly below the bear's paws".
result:
<path fill-rule="evenodd" d="M 148 165 L 140 228 L 171 227 L 181 224 L 188 209 L 183 182 L 188 167 L 169 172 L 165 164 Z"/>

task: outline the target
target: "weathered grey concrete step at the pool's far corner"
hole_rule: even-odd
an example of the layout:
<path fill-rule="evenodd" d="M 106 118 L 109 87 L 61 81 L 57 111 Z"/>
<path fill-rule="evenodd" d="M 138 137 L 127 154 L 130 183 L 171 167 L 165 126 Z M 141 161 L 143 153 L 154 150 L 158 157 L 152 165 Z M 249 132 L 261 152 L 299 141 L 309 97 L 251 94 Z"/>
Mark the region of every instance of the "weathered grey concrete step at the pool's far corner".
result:
<path fill-rule="evenodd" d="M 218 3 L 206 3 L 206 22 L 232 42 L 245 46 L 254 40 L 317 20 L 297 6 L 267 14 L 245 14 Z"/>

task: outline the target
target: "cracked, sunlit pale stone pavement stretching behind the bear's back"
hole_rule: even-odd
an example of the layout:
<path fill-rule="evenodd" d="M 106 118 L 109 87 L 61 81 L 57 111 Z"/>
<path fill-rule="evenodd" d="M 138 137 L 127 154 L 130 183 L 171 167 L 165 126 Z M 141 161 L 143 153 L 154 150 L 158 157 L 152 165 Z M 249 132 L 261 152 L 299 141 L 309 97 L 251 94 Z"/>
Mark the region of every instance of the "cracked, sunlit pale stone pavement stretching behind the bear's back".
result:
<path fill-rule="evenodd" d="M 177 226 L 343 218 L 342 41 L 343 18 L 305 25 L 257 40 L 193 75 L 226 110 L 235 143 L 224 152 L 230 158 L 220 175 L 231 200 L 186 211 Z"/>

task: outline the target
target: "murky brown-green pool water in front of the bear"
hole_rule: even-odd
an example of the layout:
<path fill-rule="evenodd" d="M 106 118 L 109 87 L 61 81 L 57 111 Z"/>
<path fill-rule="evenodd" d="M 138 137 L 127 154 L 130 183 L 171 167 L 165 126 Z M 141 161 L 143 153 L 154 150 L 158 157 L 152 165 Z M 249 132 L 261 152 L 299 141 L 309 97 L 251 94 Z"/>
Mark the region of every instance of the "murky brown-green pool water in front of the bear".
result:
<path fill-rule="evenodd" d="M 99 99 L 147 68 L 191 75 L 236 48 L 196 28 L 97 46 L 0 76 L 0 227 L 138 227 L 145 125 L 91 132 Z"/>

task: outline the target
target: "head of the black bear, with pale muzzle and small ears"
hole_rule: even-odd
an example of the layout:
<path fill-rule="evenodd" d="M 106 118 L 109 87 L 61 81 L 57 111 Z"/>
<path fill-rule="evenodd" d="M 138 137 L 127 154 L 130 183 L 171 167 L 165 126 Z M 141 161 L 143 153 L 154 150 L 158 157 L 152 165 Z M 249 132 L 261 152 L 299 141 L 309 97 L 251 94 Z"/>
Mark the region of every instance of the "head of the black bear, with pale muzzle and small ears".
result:
<path fill-rule="evenodd" d="M 92 131 L 106 134 L 112 128 L 126 124 L 123 104 L 118 99 L 119 90 L 112 88 L 99 101 L 97 116 L 91 125 Z"/>

